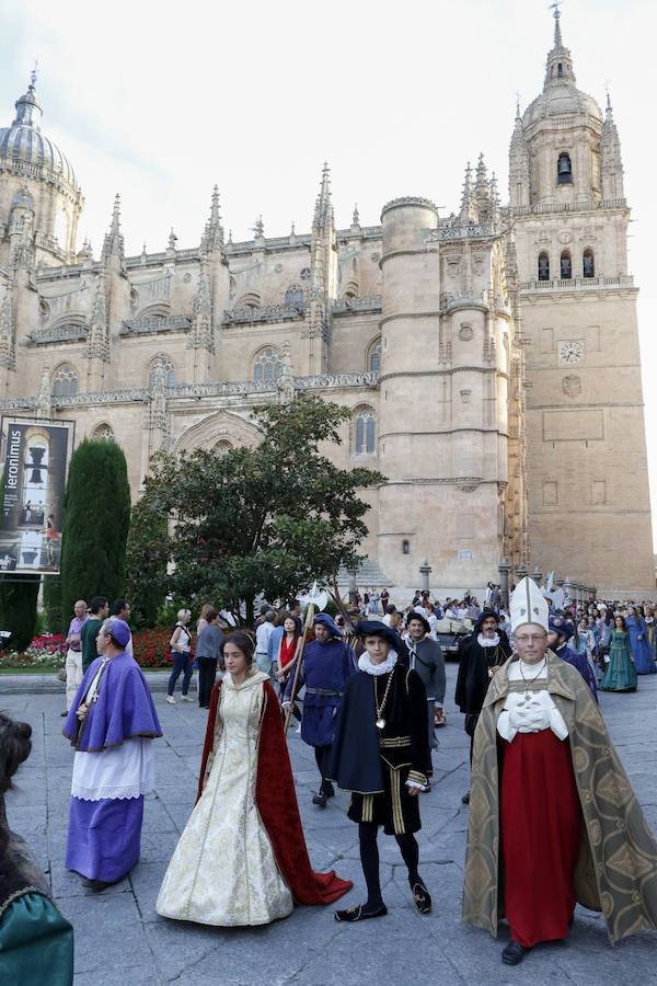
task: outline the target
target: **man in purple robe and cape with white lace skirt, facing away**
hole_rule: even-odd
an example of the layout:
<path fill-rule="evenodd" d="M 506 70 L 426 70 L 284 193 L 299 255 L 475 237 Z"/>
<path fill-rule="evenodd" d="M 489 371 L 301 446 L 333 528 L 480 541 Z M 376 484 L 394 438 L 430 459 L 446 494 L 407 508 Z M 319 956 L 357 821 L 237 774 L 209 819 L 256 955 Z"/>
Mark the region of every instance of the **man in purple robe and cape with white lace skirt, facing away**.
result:
<path fill-rule="evenodd" d="M 130 628 L 105 620 L 68 714 L 76 747 L 66 865 L 103 890 L 139 860 L 143 795 L 154 782 L 151 741 L 162 735 L 148 685 L 126 652 Z"/>

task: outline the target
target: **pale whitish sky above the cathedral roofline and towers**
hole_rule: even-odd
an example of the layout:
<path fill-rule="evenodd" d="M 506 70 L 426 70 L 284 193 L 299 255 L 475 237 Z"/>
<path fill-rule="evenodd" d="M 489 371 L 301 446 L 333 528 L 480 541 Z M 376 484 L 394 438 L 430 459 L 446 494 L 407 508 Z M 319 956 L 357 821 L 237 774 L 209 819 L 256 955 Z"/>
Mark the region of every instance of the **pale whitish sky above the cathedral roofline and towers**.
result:
<path fill-rule="evenodd" d="M 609 82 L 622 141 L 657 531 L 657 4 L 567 0 L 562 31 L 578 87 L 602 105 Z M 542 89 L 552 36 L 545 0 L 3 0 L 0 125 L 38 59 L 43 128 L 96 256 L 116 192 L 128 253 L 163 250 L 172 227 L 198 244 L 215 184 L 233 239 L 261 213 L 265 236 L 308 231 L 324 160 L 338 226 L 355 203 L 378 223 L 401 195 L 446 215 L 481 150 L 506 202 L 515 93 L 525 108 Z"/>

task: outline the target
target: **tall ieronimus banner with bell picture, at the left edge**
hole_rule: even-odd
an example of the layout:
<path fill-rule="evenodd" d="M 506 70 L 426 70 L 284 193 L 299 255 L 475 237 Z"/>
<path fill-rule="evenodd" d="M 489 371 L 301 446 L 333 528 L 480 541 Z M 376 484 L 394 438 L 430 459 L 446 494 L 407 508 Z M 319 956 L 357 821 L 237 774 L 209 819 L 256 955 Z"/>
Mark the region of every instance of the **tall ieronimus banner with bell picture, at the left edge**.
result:
<path fill-rule="evenodd" d="M 69 424 L 2 420 L 0 573 L 59 572 Z"/>

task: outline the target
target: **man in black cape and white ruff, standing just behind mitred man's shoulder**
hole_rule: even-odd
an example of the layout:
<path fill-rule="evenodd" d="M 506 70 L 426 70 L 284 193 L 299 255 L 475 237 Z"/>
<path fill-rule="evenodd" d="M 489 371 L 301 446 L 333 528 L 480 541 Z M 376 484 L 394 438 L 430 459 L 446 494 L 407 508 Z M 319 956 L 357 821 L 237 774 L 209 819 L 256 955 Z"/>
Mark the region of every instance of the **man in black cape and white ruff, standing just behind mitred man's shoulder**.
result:
<path fill-rule="evenodd" d="M 484 609 L 472 633 L 459 643 L 459 677 L 456 702 L 465 715 L 465 732 L 470 736 L 470 763 L 476 722 L 484 704 L 491 679 L 511 653 L 511 645 L 500 617 L 492 609 Z M 461 799 L 470 804 L 470 791 Z"/>

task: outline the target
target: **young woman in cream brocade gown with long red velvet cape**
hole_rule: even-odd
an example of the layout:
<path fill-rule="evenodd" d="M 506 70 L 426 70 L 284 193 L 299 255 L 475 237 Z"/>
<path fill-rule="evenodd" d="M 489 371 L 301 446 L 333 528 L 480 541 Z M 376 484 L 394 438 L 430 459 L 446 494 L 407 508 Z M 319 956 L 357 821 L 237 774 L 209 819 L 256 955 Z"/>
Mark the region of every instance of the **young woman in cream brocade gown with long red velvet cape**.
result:
<path fill-rule="evenodd" d="M 328 904 L 350 887 L 310 868 L 278 701 L 252 658 L 246 633 L 227 638 L 228 674 L 212 690 L 199 799 L 158 896 L 163 917 L 266 925 L 287 917 L 295 899 Z M 276 758 L 275 769 L 264 756 Z"/>

